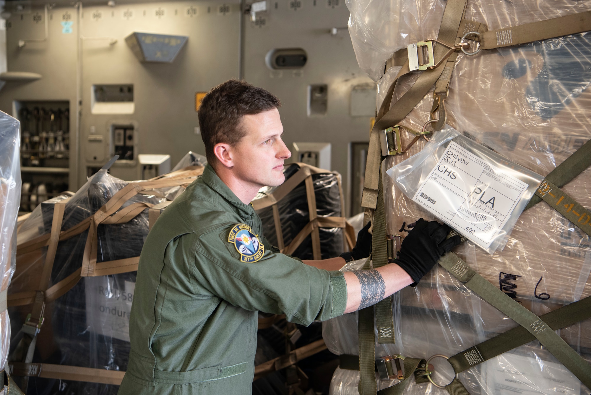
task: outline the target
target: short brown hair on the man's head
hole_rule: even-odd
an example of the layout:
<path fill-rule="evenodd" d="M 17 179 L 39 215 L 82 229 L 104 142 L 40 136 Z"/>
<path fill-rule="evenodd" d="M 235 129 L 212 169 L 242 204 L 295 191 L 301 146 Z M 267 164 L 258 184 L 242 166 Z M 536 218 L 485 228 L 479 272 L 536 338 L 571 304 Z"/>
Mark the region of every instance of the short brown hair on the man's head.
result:
<path fill-rule="evenodd" d="M 205 143 L 207 162 L 217 161 L 213 147 L 218 143 L 237 144 L 245 135 L 242 116 L 254 115 L 281 106 L 266 89 L 248 82 L 228 80 L 207 92 L 199 106 L 199 128 Z"/>

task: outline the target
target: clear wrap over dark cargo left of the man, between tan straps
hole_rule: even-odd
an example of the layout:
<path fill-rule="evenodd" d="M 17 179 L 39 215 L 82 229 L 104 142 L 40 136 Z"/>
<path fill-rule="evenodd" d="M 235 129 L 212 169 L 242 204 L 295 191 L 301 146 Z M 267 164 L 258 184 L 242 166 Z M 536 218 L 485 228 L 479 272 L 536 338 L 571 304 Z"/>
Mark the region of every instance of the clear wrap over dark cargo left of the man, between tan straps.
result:
<path fill-rule="evenodd" d="M 128 182 L 100 170 L 71 198 L 68 195 L 41 203 L 18 232 L 21 245 L 51 232 L 54 205 L 69 198 L 64 208 L 61 231 L 66 231 L 92 216 Z M 182 186 L 180 187 L 183 188 Z M 145 190 L 128 199 L 121 207 L 142 202 L 157 205 L 164 202 L 168 190 L 178 186 Z M 180 191 L 182 192 L 182 190 Z M 157 196 L 161 195 L 161 196 Z M 148 208 L 121 224 L 99 224 L 97 229 L 97 263 L 138 257 L 148 234 Z M 82 264 L 88 229 L 57 245 L 50 286 L 66 279 Z M 20 254 L 9 289 L 11 294 L 37 289 L 40 268 L 47 248 Z M 47 303 L 37 339 L 33 362 L 71 365 L 125 371 L 129 355 L 129 311 L 134 295 L 135 271 L 108 276 L 82 277 L 69 291 Z M 9 308 L 12 334 L 18 333 L 32 305 Z M 12 339 L 12 347 L 18 342 Z M 30 377 L 28 394 L 116 394 L 118 386 Z"/>

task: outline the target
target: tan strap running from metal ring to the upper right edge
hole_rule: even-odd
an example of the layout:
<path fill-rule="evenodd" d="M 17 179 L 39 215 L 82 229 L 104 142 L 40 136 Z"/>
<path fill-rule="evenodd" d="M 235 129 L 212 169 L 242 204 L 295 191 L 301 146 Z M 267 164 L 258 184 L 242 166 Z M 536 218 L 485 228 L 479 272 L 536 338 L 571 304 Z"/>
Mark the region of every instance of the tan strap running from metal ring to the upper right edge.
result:
<path fill-rule="evenodd" d="M 480 49 L 516 46 L 591 30 L 591 11 L 491 30 L 479 35 Z"/>

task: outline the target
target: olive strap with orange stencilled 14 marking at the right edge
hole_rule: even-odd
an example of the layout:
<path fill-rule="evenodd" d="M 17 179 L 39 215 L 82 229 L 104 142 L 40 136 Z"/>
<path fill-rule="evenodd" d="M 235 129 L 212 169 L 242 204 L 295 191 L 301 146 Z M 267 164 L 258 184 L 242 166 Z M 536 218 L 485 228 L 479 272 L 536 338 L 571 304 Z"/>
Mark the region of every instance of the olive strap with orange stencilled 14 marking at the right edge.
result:
<path fill-rule="evenodd" d="M 591 236 L 591 212 L 577 203 L 569 194 L 550 181 L 544 180 L 535 191 L 535 195 Z"/>

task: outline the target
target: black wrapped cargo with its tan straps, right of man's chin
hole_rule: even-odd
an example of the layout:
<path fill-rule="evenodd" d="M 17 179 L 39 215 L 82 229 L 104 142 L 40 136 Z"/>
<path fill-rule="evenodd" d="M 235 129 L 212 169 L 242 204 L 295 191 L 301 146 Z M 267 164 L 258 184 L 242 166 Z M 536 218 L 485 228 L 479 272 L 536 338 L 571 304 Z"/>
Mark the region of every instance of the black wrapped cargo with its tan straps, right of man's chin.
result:
<path fill-rule="evenodd" d="M 305 180 L 301 180 L 297 184 L 291 183 L 291 186 L 289 183 L 290 178 L 293 176 L 296 178 L 298 178 L 299 174 L 304 176 L 303 171 L 306 169 L 312 169 L 309 176 L 313 184 L 315 199 L 313 206 L 316 207 L 314 217 L 318 218 L 319 221 L 323 221 L 323 219 L 324 221 L 335 220 L 328 224 L 319 222 L 322 259 L 334 258 L 348 248 L 345 244 L 345 218 L 342 217 L 343 192 L 339 173 L 316 169 L 301 163 L 290 164 L 285 166 L 284 169 L 284 184 L 280 187 L 265 187 L 252 200 L 252 205 L 261 218 L 264 235 L 272 245 L 276 245 L 280 250 L 302 260 L 320 259 L 320 257 L 314 258 L 314 234 L 308 231 L 305 238 L 300 237 L 303 232 L 306 232 L 307 225 L 311 221 L 310 207 L 312 202 L 307 192 L 309 187 L 306 185 Z M 282 193 L 281 190 L 278 192 L 280 188 L 287 191 L 285 186 L 288 187 L 287 193 Z M 275 209 L 269 204 L 274 203 L 274 200 L 269 199 L 269 196 L 278 194 L 281 197 L 277 199 L 277 212 L 274 213 Z M 277 215 L 280 222 L 280 232 L 277 231 L 275 222 L 275 216 Z M 296 245 L 298 241 L 299 244 Z M 290 246 L 292 242 L 294 244 Z"/>

